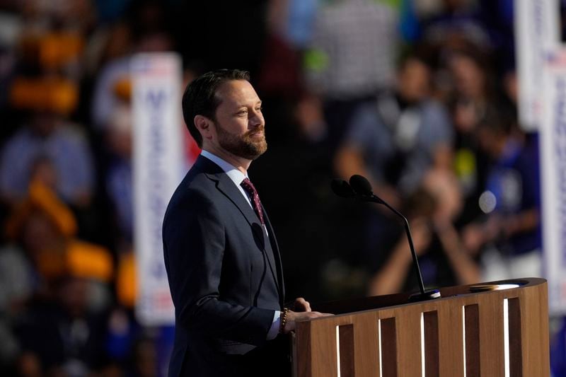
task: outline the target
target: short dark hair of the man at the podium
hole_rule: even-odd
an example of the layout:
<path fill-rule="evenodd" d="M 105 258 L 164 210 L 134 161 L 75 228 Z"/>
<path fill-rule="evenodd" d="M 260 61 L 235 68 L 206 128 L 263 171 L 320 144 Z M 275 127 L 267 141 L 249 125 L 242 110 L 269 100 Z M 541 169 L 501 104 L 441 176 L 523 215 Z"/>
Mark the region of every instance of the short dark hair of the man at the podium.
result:
<path fill-rule="evenodd" d="M 218 69 L 198 77 L 187 85 L 185 89 L 183 94 L 183 118 L 192 138 L 197 141 L 198 146 L 201 148 L 202 135 L 195 127 L 195 116 L 203 115 L 214 120 L 216 108 L 221 103 L 220 98 L 216 95 L 216 91 L 221 84 L 233 80 L 250 81 L 250 74 L 248 71 L 239 69 Z"/>

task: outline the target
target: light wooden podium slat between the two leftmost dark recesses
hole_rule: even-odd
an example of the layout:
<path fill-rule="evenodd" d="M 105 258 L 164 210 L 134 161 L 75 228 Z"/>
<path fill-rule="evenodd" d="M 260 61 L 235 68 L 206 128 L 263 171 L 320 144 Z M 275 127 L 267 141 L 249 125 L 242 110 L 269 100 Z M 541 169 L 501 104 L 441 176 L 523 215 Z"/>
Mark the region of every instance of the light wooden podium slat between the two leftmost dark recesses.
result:
<path fill-rule="evenodd" d="M 354 325 L 356 377 L 379 376 L 379 334 L 375 313 L 360 314 Z"/>

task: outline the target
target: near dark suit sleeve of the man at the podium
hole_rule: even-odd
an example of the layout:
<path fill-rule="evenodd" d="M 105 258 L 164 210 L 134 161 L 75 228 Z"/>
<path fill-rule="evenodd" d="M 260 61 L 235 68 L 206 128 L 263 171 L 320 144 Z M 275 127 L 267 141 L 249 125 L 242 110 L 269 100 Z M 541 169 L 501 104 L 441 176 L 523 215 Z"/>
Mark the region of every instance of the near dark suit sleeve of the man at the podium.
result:
<path fill-rule="evenodd" d="M 275 311 L 222 301 L 219 282 L 226 235 L 221 214 L 201 192 L 189 190 L 163 223 L 163 249 L 177 326 L 209 337 L 260 345 Z"/>

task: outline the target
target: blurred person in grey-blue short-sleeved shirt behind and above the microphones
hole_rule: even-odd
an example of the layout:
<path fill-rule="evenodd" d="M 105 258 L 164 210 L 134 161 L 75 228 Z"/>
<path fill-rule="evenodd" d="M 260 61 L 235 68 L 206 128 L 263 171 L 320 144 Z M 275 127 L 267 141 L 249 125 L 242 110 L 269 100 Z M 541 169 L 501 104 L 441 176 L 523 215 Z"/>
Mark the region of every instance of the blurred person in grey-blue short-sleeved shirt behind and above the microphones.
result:
<path fill-rule="evenodd" d="M 430 71 L 416 56 L 408 56 L 398 69 L 394 91 L 361 106 L 352 117 L 335 158 L 344 178 L 369 178 L 376 195 L 393 207 L 420 186 L 429 170 L 451 168 L 453 140 L 448 113 L 430 98 Z M 366 214 L 362 258 L 376 265 L 379 250 L 393 242 L 398 225 L 388 211 L 369 209 Z"/>

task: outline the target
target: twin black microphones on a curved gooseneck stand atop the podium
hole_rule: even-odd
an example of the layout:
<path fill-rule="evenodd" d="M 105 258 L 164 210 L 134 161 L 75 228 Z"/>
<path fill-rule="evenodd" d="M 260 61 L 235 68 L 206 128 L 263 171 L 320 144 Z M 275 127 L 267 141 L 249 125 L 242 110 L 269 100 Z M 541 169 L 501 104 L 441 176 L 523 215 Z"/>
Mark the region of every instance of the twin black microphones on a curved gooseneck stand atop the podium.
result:
<path fill-rule="evenodd" d="M 403 219 L 405 233 L 407 234 L 407 239 L 409 241 L 409 247 L 412 255 L 412 265 L 413 267 L 415 267 L 415 273 L 417 274 L 417 281 L 420 291 L 420 293 L 412 294 L 409 298 L 409 301 L 424 301 L 431 300 L 433 298 L 439 298 L 440 291 L 438 289 L 424 291 L 424 284 L 422 283 L 422 274 L 420 272 L 419 260 L 417 258 L 417 253 L 415 252 L 415 246 L 412 243 L 412 236 L 408 219 L 399 211 L 391 207 L 385 200 L 375 195 L 373 190 L 371 190 L 371 184 L 369 183 L 369 180 L 367 180 L 367 178 L 362 175 L 352 175 L 352 177 L 350 177 L 350 184 L 348 184 L 348 182 L 346 182 L 345 180 L 333 180 L 331 186 L 335 194 L 340 197 L 353 197 L 364 202 L 383 204 L 385 207 L 393 211 L 394 214 Z"/>

